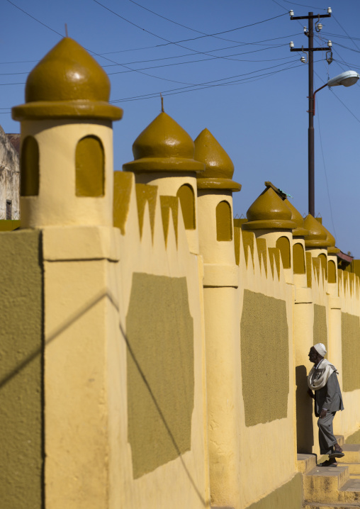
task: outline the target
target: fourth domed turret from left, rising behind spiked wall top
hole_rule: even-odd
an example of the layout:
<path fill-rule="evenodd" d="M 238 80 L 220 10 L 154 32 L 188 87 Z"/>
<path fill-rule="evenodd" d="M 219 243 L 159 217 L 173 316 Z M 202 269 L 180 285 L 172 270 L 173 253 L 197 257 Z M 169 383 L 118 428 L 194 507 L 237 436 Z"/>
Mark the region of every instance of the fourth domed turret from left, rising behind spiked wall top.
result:
<path fill-rule="evenodd" d="M 288 208 L 271 182 L 266 182 L 266 189 L 252 203 L 247 211 L 247 223 L 242 230 L 253 231 L 257 238 L 266 239 L 269 248 L 278 248 L 286 282 L 293 282 L 293 235 L 296 223 L 292 220 Z"/>

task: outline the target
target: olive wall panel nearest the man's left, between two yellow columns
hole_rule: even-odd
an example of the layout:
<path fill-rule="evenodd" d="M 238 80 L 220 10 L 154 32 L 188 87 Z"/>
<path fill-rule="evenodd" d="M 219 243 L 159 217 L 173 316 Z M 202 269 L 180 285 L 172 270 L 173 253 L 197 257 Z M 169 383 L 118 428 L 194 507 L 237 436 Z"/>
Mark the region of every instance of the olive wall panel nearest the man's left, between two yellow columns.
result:
<path fill-rule="evenodd" d="M 289 350 L 285 301 L 244 290 L 240 332 L 245 425 L 286 418 Z"/>

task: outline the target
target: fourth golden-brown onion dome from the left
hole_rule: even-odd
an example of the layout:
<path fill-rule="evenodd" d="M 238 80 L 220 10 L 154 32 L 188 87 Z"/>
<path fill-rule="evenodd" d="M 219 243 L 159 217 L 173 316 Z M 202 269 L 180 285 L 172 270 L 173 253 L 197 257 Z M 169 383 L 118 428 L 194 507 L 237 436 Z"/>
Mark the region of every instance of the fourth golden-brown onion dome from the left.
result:
<path fill-rule="evenodd" d="M 291 210 L 274 189 L 266 187 L 247 211 L 248 222 L 244 230 L 292 230 Z"/>

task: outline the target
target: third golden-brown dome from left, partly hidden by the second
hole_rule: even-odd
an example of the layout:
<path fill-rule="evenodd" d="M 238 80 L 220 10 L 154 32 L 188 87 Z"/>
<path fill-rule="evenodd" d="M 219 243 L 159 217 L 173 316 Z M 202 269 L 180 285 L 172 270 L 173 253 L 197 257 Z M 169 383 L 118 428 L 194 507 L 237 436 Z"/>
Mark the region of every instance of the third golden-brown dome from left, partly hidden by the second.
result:
<path fill-rule="evenodd" d="M 198 188 L 240 191 L 241 185 L 232 180 L 234 164 L 210 131 L 202 130 L 194 143 L 195 159 L 205 164 L 205 172 L 198 176 Z"/>

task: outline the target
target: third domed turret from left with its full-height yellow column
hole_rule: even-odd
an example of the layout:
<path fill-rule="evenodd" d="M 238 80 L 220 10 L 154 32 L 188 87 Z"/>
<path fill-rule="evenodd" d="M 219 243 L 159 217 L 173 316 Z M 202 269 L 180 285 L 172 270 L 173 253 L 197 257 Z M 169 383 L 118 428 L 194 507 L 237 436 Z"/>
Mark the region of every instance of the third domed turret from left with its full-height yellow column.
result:
<path fill-rule="evenodd" d="M 210 493 L 213 505 L 243 507 L 240 491 L 241 379 L 239 267 L 235 261 L 232 191 L 234 164 L 204 129 L 195 157 L 198 175 L 198 230 L 204 261 L 204 313 Z"/>

